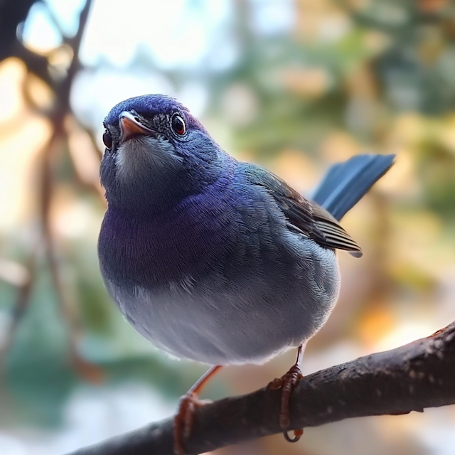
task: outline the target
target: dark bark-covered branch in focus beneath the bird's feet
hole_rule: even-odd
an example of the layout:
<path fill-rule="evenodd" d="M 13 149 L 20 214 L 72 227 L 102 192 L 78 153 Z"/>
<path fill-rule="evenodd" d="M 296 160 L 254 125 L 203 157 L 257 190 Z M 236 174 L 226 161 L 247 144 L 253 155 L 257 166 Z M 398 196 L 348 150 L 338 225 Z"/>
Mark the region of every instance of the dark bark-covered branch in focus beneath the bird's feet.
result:
<path fill-rule="evenodd" d="M 291 399 L 291 428 L 351 417 L 423 412 L 455 404 L 455 322 L 428 338 L 303 378 Z M 198 407 L 188 455 L 281 432 L 281 391 L 261 389 Z M 173 455 L 172 419 L 70 455 Z"/>

